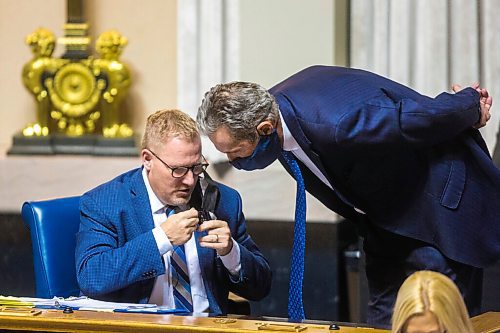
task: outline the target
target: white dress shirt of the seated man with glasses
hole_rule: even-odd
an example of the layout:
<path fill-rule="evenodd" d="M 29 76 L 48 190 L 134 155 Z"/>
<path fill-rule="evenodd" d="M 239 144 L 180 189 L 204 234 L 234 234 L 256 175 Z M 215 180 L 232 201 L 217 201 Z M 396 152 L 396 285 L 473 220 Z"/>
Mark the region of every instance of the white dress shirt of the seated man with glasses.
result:
<path fill-rule="evenodd" d="M 144 184 L 146 184 L 149 203 L 151 205 L 151 214 L 153 215 L 153 221 L 155 224 L 155 228 L 153 229 L 153 236 L 158 246 L 158 251 L 161 255 L 163 255 L 163 260 L 165 262 L 165 274 L 159 275 L 156 278 L 149 303 L 173 309 L 175 308 L 173 288 L 171 279 L 169 278 L 171 273 L 170 256 L 173 252 L 173 246 L 163 229 L 160 227 L 160 225 L 167 219 L 165 215 L 167 207 L 160 201 L 160 199 L 158 199 L 156 194 L 153 192 L 153 189 L 149 184 L 147 171 L 144 168 L 142 169 L 142 177 L 144 179 Z M 205 186 L 202 186 L 202 188 L 206 188 L 206 184 Z M 188 207 L 180 208 L 188 209 Z M 191 297 L 193 299 L 193 312 L 202 313 L 208 310 L 209 302 L 201 275 L 196 241 L 197 240 L 195 239 L 195 237 L 191 237 L 191 239 L 189 239 L 189 241 L 184 244 L 184 252 L 186 254 L 186 263 L 189 271 Z M 238 243 L 234 241 L 234 239 L 231 251 L 225 256 L 220 256 L 220 259 L 222 260 L 224 266 L 231 273 L 231 275 L 237 276 L 239 274 L 241 269 L 240 248 Z"/>

